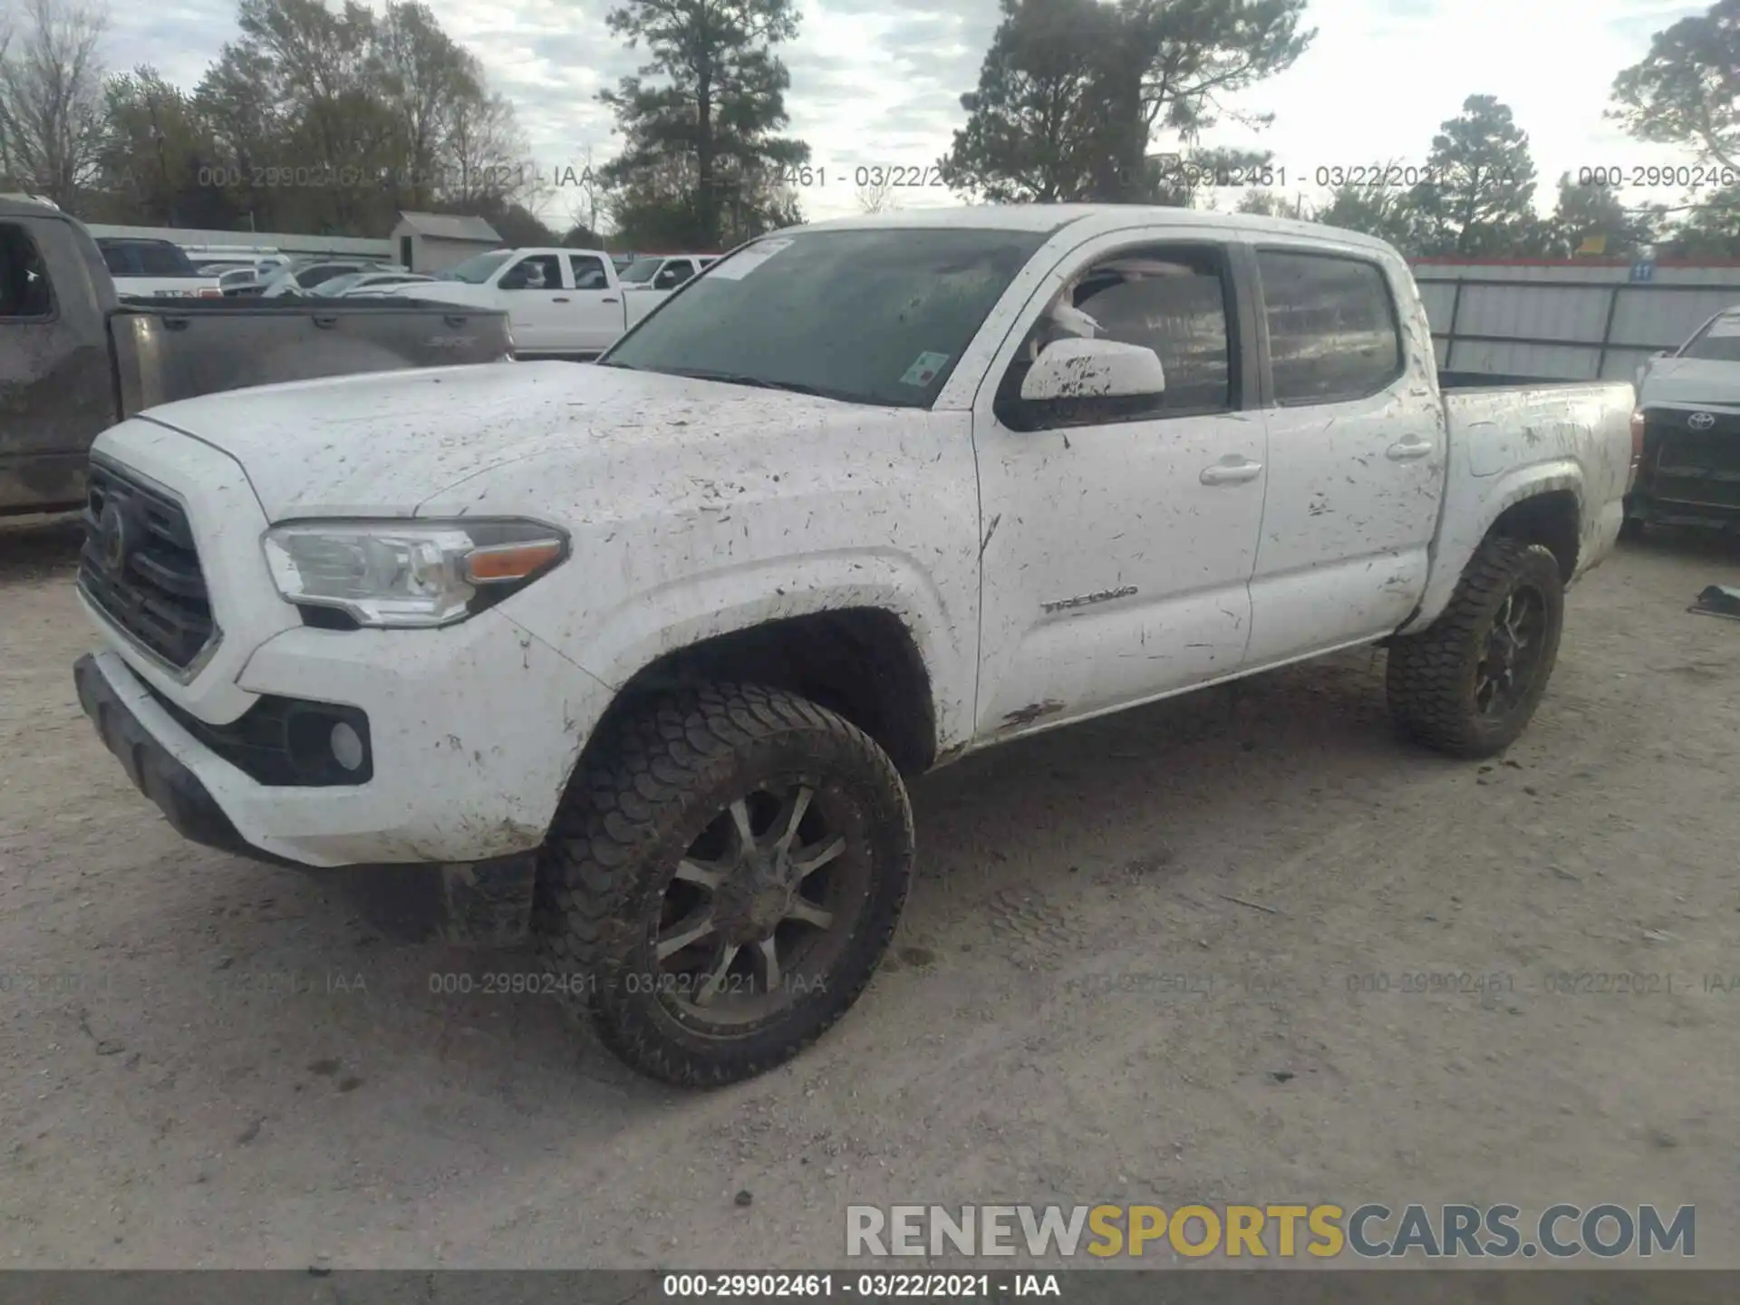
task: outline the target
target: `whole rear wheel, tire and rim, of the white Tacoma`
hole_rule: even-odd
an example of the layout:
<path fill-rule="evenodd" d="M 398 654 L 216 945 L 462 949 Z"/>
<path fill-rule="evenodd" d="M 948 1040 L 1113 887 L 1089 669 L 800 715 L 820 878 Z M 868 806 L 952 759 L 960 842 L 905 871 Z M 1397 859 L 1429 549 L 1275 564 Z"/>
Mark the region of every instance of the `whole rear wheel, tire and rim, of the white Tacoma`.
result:
<path fill-rule="evenodd" d="M 1503 752 L 1547 691 L 1563 628 L 1559 560 L 1540 545 L 1486 539 L 1444 614 L 1390 646 L 1390 713 L 1453 757 Z"/>

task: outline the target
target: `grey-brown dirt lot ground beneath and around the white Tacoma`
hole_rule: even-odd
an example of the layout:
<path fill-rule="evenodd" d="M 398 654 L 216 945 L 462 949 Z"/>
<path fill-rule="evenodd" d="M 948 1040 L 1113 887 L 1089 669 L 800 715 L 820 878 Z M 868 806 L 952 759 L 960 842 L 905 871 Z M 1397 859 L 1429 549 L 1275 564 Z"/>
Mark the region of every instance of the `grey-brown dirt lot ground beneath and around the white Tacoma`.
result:
<path fill-rule="evenodd" d="M 1362 652 L 927 778 L 898 962 L 705 1096 L 181 842 L 78 712 L 71 557 L 0 532 L 10 1267 L 825 1267 L 849 1202 L 999 1199 L 1695 1202 L 1740 1263 L 1731 546 L 1596 571 L 1493 766 L 1394 741 Z"/>

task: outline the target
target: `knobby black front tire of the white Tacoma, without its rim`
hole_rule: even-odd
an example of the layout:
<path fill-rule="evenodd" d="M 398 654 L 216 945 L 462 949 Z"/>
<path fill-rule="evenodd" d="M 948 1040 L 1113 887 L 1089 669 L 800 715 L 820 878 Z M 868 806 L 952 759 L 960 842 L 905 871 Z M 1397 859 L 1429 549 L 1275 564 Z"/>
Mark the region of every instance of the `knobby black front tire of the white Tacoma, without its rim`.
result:
<path fill-rule="evenodd" d="M 861 729 L 780 689 L 720 684 L 630 713 L 576 774 L 538 868 L 536 927 L 566 1002 L 632 1068 L 686 1088 L 764 1074 L 821 1037 L 863 994 L 912 882 L 914 826 L 893 760 Z M 686 1027 L 644 976 L 665 893 L 698 830 L 769 776 L 804 774 L 854 814 L 863 905 L 821 990 L 746 1035 Z M 811 780 L 806 780 L 809 783 Z M 818 797 L 818 802 L 821 799 Z"/>

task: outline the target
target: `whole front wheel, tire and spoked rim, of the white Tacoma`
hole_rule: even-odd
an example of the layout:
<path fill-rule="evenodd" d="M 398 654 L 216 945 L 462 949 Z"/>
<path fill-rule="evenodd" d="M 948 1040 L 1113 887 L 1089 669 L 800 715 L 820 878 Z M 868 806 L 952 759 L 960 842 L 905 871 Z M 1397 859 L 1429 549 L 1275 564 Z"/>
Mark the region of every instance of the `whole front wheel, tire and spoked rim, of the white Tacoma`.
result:
<path fill-rule="evenodd" d="M 858 1000 L 912 879 L 887 753 L 776 689 L 628 715 L 564 800 L 539 867 L 550 964 L 612 1053 L 722 1086 L 797 1056 Z"/>

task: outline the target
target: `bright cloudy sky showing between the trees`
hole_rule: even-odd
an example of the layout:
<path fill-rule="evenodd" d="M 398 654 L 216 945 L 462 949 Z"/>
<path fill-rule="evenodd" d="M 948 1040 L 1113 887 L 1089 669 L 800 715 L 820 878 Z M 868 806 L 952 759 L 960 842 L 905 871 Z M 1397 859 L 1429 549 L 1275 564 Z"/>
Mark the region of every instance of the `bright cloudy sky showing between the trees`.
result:
<path fill-rule="evenodd" d="M 633 71 L 637 56 L 604 26 L 612 0 L 428 0 L 470 47 L 496 89 L 515 101 L 545 176 L 604 162 L 616 143 L 600 87 Z M 860 165 L 927 165 L 962 122 L 997 24 L 997 0 L 799 0 L 802 31 L 783 57 L 792 70 L 790 132 L 809 141 L 823 181 L 804 193 L 809 216 L 856 211 Z M 1470 94 L 1510 104 L 1529 134 L 1550 207 L 1554 181 L 1580 167 L 1681 164 L 1681 155 L 1629 141 L 1603 122 L 1615 73 L 1648 52 L 1651 33 L 1705 5 L 1674 0 L 1310 0 L 1317 38 L 1286 73 L 1235 106 L 1274 113 L 1263 132 L 1225 125 L 1208 144 L 1274 150 L 1288 188 L 1317 193 L 1319 167 L 1422 162 L 1437 125 Z M 235 35 L 233 0 L 117 3 L 108 61 L 151 63 L 193 85 Z M 1155 150 L 1164 150 L 1155 141 Z M 1669 200 L 1629 190 L 1627 202 Z M 576 191 L 557 193 L 545 218 L 571 216 Z M 901 191 L 903 204 L 948 204 L 941 190 Z M 1235 195 L 1227 195 L 1230 207 Z"/>

